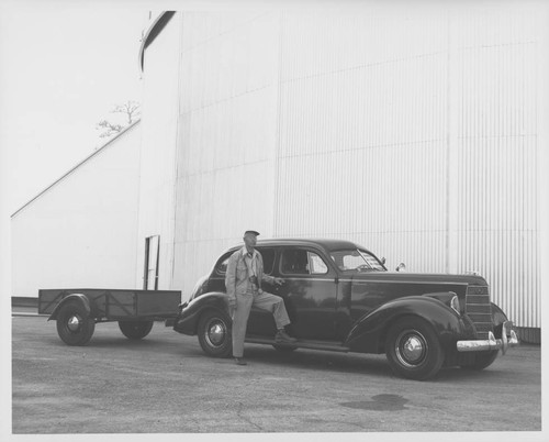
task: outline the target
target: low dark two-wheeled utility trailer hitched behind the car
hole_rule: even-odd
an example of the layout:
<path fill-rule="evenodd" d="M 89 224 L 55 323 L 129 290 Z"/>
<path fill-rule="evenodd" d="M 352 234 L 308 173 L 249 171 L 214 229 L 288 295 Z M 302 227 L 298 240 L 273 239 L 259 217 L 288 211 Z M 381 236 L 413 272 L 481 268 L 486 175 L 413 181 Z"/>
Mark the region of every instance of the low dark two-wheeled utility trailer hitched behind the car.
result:
<path fill-rule="evenodd" d="M 98 322 L 117 321 L 126 338 L 145 338 L 155 320 L 176 318 L 180 302 L 176 290 L 38 290 L 38 313 L 57 321 L 57 333 L 68 345 L 86 345 Z"/>

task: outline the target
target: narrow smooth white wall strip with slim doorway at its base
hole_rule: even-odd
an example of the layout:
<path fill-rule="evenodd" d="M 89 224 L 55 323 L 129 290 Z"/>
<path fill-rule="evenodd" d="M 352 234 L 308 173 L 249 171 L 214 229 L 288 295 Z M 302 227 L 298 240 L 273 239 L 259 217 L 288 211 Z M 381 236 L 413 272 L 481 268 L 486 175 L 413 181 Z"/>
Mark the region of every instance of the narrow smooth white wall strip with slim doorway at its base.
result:
<path fill-rule="evenodd" d="M 135 236 L 138 288 L 144 283 L 148 236 L 159 235 L 158 289 L 170 289 L 173 276 L 180 19 L 172 18 L 145 52 L 139 225 Z"/>

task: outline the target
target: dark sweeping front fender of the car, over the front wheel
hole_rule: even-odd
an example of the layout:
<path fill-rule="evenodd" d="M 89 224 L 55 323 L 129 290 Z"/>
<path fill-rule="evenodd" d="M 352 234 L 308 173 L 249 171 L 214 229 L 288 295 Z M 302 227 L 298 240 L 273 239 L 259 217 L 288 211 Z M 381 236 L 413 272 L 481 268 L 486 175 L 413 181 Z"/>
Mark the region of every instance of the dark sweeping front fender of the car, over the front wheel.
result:
<path fill-rule="evenodd" d="M 418 317 L 427 321 L 444 346 L 456 346 L 463 334 L 461 318 L 436 297 L 410 296 L 397 298 L 360 318 L 350 330 L 345 345 L 351 351 L 382 353 L 389 328 L 403 317 Z"/>

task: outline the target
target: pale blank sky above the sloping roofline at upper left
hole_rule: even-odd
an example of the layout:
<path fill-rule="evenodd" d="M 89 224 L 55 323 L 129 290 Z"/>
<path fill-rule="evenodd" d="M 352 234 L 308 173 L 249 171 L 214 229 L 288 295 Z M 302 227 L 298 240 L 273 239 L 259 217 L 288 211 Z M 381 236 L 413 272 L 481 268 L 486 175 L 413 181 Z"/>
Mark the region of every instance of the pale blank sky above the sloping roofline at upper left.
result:
<path fill-rule="evenodd" d="M 96 124 L 141 101 L 138 3 L 0 1 L 0 298 L 10 216 L 105 142 Z"/>

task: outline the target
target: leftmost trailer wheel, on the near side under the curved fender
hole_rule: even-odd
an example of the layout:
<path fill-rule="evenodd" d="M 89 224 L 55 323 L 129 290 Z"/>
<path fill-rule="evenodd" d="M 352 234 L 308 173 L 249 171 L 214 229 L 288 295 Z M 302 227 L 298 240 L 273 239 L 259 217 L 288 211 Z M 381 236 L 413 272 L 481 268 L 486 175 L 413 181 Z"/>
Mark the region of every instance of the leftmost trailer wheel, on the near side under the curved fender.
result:
<path fill-rule="evenodd" d="M 57 313 L 57 333 L 68 345 L 86 345 L 96 330 L 96 321 L 78 301 L 61 306 Z"/>

